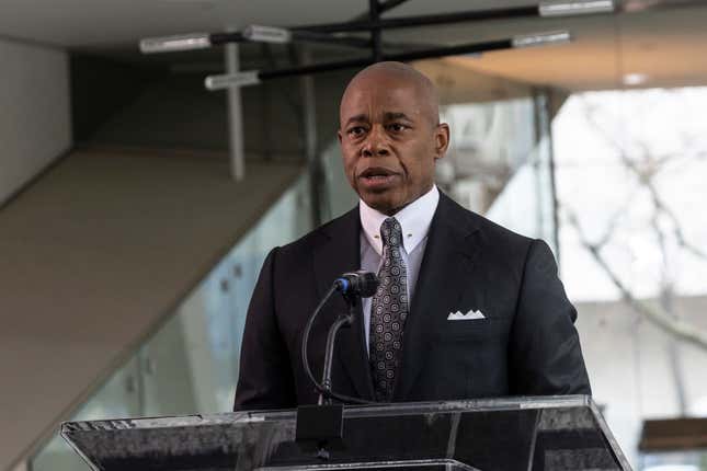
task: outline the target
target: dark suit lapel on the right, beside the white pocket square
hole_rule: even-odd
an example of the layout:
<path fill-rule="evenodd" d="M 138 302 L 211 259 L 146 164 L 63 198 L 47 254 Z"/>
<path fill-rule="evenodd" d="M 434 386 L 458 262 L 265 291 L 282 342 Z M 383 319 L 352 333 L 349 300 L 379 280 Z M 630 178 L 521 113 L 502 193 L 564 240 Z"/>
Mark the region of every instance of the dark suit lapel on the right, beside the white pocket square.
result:
<path fill-rule="evenodd" d="M 402 367 L 394 400 L 406 400 L 410 388 L 424 366 L 424 357 L 434 324 L 448 313 L 447 306 L 457 306 L 468 285 L 477 244 L 469 236 L 476 227 L 468 212 L 440 194 L 440 204 L 432 219 L 425 253 L 406 321 Z"/>

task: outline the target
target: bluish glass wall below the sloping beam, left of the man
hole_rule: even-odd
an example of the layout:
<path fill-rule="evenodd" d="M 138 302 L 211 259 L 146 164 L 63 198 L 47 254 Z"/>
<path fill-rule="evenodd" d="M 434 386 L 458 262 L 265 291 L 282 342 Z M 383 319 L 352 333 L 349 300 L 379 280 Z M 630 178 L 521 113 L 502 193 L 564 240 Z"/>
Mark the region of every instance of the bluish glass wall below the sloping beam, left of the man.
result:
<path fill-rule="evenodd" d="M 174 315 L 71 417 L 184 415 L 232 409 L 246 311 L 267 252 L 311 230 L 301 176 L 184 299 Z M 58 435 L 33 471 L 88 469 Z"/>

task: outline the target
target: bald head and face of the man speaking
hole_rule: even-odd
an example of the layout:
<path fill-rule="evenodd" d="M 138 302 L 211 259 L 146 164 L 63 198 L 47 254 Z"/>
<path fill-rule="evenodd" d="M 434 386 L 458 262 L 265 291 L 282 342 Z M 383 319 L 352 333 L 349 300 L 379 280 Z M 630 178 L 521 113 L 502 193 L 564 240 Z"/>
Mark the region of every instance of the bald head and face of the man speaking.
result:
<path fill-rule="evenodd" d="M 394 215 L 425 194 L 449 143 L 434 85 L 400 62 L 378 62 L 349 83 L 339 142 L 351 186 L 372 208 Z"/>

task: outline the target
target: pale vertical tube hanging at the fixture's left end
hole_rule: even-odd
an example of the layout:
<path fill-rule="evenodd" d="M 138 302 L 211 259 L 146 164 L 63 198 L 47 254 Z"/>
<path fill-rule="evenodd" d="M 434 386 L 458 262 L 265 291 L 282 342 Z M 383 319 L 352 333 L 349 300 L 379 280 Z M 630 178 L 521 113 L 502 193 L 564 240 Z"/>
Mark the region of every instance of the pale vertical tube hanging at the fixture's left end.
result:
<path fill-rule="evenodd" d="M 225 47 L 226 73 L 240 70 L 238 43 L 228 43 Z M 240 87 L 229 87 L 228 100 L 228 143 L 231 177 L 239 182 L 246 176 L 246 150 L 243 147 L 243 116 L 240 99 Z"/>

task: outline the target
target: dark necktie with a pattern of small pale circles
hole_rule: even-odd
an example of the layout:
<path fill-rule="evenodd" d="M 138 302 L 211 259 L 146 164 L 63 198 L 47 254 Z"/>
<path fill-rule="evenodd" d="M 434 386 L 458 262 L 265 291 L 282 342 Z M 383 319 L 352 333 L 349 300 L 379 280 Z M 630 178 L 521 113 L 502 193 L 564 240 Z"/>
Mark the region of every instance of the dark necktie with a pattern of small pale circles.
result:
<path fill-rule="evenodd" d="M 402 329 L 408 317 L 408 271 L 402 260 L 402 229 L 396 218 L 380 226 L 380 285 L 370 303 L 368 358 L 377 401 L 389 401 L 402 359 Z"/>

